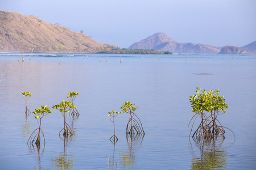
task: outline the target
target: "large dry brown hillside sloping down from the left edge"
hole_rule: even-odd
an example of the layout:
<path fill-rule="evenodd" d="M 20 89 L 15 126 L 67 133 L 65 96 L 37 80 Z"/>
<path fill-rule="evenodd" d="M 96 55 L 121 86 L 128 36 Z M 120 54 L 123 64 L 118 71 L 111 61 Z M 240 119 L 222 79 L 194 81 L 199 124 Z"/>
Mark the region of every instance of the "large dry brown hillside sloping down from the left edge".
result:
<path fill-rule="evenodd" d="M 113 48 L 32 15 L 0 11 L 0 52 L 96 53 Z"/>

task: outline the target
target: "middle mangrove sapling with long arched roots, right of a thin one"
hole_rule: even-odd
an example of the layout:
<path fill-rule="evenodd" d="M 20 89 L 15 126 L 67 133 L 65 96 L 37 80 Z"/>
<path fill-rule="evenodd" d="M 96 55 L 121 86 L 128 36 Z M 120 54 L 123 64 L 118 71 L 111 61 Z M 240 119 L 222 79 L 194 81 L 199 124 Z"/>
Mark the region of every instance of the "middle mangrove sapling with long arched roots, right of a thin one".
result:
<path fill-rule="evenodd" d="M 131 104 L 130 101 L 126 101 L 125 103 L 123 103 L 121 107 L 121 110 L 122 110 L 121 112 L 130 114 L 129 121 L 126 126 L 126 134 L 129 134 L 129 135 L 134 135 L 135 133 L 145 134 L 142 127 L 141 120 L 139 120 L 139 117 L 134 113 L 134 111 L 138 107 L 135 108 L 134 105 L 135 104 Z"/>

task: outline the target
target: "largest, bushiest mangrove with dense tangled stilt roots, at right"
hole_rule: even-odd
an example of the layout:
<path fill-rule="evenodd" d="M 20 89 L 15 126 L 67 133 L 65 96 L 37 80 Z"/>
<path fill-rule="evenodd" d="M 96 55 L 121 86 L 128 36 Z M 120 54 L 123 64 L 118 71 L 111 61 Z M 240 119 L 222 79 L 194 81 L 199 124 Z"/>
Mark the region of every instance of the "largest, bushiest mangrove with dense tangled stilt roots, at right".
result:
<path fill-rule="evenodd" d="M 217 137 L 217 135 L 219 134 L 221 134 L 221 136 L 225 138 L 224 128 L 226 127 L 222 126 L 220 124 L 220 121 L 218 121 L 217 119 L 218 115 L 222 113 L 226 113 L 225 109 L 228 109 L 228 105 L 225 103 L 224 96 L 219 96 L 220 94 L 219 90 L 215 90 L 215 91 L 210 90 L 209 92 L 202 90 L 201 91 L 202 93 L 199 94 L 200 91 L 201 89 L 197 87 L 196 88 L 197 95 L 190 96 L 190 99 L 189 99 L 192 107 L 192 112 L 196 113 L 191 118 L 191 121 L 193 119 L 194 120 L 193 120 L 189 137 L 191 135 L 193 125 L 195 124 L 197 117 L 200 117 L 201 122 L 198 128 L 196 129 L 196 131 L 192 135 L 193 139 L 197 141 L 201 141 L 201 139 L 208 140 L 208 139 L 213 139 L 214 137 Z M 189 122 L 189 124 L 191 123 L 191 121 Z"/>

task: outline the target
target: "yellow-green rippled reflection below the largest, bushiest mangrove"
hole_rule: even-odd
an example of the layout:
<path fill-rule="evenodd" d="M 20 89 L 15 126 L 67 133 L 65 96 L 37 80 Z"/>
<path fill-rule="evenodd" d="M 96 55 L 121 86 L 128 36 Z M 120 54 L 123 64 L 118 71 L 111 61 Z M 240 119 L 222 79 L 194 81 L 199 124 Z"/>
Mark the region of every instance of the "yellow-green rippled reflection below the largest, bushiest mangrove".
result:
<path fill-rule="evenodd" d="M 224 169 L 227 167 L 228 152 L 222 146 L 223 138 L 210 139 L 202 143 L 193 142 L 193 144 L 190 143 L 193 155 L 191 169 Z"/>

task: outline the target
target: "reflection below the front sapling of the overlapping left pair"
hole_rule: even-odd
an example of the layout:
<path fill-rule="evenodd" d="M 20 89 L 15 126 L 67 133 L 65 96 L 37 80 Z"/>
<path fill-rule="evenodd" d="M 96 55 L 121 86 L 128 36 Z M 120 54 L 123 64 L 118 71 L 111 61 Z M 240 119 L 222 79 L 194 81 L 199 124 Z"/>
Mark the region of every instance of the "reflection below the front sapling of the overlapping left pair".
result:
<path fill-rule="evenodd" d="M 73 135 L 66 136 L 64 138 L 61 138 L 64 143 L 63 152 L 60 152 L 59 156 L 52 159 L 52 165 L 55 168 L 59 169 L 73 169 L 76 163 L 75 156 L 69 155 L 66 146 L 68 146 L 69 143 L 72 142 L 72 138 L 75 137 L 75 131 L 73 130 Z"/>

